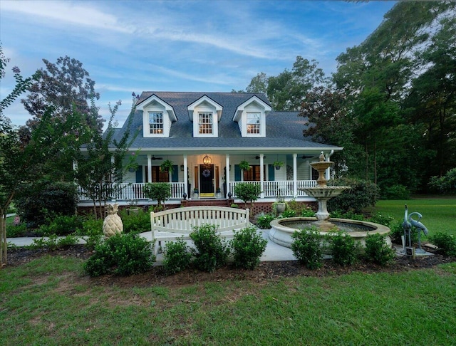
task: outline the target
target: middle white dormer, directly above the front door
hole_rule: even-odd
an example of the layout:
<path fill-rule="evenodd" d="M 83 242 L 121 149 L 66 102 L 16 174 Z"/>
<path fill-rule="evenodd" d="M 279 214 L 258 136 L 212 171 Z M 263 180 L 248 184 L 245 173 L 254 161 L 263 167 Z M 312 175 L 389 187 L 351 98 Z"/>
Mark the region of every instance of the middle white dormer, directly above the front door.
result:
<path fill-rule="evenodd" d="M 207 95 L 187 107 L 193 122 L 193 137 L 219 137 L 219 121 L 223 107 Z"/>

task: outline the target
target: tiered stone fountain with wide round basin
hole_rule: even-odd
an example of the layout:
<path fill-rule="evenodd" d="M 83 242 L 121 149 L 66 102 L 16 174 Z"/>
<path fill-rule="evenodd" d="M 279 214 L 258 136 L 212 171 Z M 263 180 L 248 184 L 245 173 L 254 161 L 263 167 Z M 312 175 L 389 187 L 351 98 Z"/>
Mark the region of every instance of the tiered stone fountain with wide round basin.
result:
<path fill-rule="evenodd" d="M 388 234 L 390 229 L 380 224 L 374 224 L 368 221 L 358 221 L 349 219 L 330 219 L 327 202 L 329 199 L 338 196 L 346 189 L 350 187 L 328 187 L 327 179 L 325 177 L 325 171 L 328 167 L 331 167 L 333 162 L 326 161 L 323 152 L 319 157 L 318 162 L 311 162 L 311 167 L 318 171 L 318 179 L 316 187 L 308 187 L 301 189 L 302 191 L 314 197 L 318 201 L 318 211 L 316 212 L 316 218 L 309 217 L 290 217 L 284 219 L 276 219 L 271 221 L 271 230 L 269 231 L 269 238 L 274 243 L 278 243 L 281 246 L 291 248 L 291 234 L 295 231 L 299 231 L 308 226 L 316 226 L 320 230 L 320 234 L 324 235 L 329 230 L 339 229 L 346 231 L 348 234 L 355 238 L 361 243 L 361 246 L 365 245 L 365 238 L 367 234 Z M 390 239 L 387 237 L 386 242 L 388 245 L 391 244 Z"/>

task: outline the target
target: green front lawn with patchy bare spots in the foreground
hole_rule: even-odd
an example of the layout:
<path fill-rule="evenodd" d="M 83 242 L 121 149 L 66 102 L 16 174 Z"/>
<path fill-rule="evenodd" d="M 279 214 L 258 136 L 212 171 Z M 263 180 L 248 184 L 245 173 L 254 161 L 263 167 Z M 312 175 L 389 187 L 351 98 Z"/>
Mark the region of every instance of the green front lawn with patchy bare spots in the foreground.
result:
<path fill-rule="evenodd" d="M 3 345 L 456 345 L 456 263 L 120 288 L 45 257 L 0 271 L 0 307 Z"/>

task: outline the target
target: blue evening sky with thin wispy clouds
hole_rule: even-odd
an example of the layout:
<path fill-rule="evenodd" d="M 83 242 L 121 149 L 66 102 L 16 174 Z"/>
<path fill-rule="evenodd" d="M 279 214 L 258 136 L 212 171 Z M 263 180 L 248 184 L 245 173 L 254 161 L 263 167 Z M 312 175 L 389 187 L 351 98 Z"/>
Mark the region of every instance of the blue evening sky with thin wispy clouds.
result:
<path fill-rule="evenodd" d="M 395 1 L 10 1 L 0 0 L 0 41 L 11 61 L 0 98 L 24 76 L 70 56 L 100 93 L 100 114 L 122 100 L 118 122 L 142 91 L 242 90 L 264 72 L 316 59 L 327 75 L 336 57 L 363 42 Z M 4 114 L 30 118 L 21 103 Z"/>

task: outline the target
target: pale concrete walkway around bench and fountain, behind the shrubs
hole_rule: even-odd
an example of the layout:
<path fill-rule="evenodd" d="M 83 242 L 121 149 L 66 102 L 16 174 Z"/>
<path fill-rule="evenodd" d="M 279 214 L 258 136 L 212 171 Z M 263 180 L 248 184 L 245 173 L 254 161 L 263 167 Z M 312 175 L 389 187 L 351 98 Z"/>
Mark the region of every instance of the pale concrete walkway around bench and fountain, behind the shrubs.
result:
<path fill-rule="evenodd" d="M 293 251 L 291 251 L 291 248 L 286 248 L 284 246 L 280 246 L 271 240 L 269 240 L 269 230 L 268 229 L 259 229 L 261 231 L 261 235 L 263 238 L 265 238 L 268 243 L 266 245 L 266 250 L 263 253 L 263 256 L 261 256 L 261 261 L 296 261 L 296 257 L 293 255 Z M 152 232 L 144 232 L 141 233 L 140 236 L 147 240 L 152 240 Z M 63 237 L 62 237 L 63 238 Z M 14 246 L 28 246 L 33 244 L 33 239 L 41 239 L 40 237 L 33 238 L 33 237 L 21 237 L 21 238 L 6 238 L 7 243 L 11 243 Z M 45 240 L 47 240 L 47 237 L 44 237 Z M 85 244 L 86 241 L 84 241 L 83 238 L 79 238 L 78 241 L 79 244 Z M 190 241 L 189 241 L 190 243 Z M 163 261 L 163 256 L 161 253 L 157 255 L 157 263 L 160 263 Z"/>

